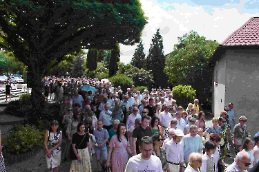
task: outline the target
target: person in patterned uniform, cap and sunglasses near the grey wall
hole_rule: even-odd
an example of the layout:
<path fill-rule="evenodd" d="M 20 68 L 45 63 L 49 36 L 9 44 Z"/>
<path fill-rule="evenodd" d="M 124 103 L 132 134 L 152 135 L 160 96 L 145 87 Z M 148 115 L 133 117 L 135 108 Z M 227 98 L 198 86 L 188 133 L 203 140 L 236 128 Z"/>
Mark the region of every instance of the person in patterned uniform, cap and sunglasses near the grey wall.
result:
<path fill-rule="evenodd" d="M 239 123 L 233 128 L 233 144 L 236 153 L 240 151 L 240 147 L 245 138 L 249 136 L 247 131 L 247 118 L 245 116 L 240 116 Z"/>

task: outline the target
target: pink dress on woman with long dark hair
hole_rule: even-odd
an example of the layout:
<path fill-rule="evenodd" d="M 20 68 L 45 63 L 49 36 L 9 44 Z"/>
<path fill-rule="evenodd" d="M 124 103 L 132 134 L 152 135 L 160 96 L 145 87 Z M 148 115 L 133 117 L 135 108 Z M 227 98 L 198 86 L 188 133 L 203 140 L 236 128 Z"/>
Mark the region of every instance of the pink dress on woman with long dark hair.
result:
<path fill-rule="evenodd" d="M 126 147 L 128 146 L 128 141 L 126 138 L 120 142 L 117 139 L 117 135 L 111 138 L 110 147 L 113 147 L 112 154 L 112 169 L 113 172 L 125 171 L 126 164 L 128 162 L 128 152 Z"/>

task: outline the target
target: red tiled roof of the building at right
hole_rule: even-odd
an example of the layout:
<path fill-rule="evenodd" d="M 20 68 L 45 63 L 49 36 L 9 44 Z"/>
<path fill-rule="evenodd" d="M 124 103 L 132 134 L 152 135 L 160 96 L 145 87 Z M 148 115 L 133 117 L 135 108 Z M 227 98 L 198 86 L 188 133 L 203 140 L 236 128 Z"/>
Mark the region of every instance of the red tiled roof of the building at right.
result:
<path fill-rule="evenodd" d="M 259 45 L 259 18 L 251 17 L 221 45 Z"/>

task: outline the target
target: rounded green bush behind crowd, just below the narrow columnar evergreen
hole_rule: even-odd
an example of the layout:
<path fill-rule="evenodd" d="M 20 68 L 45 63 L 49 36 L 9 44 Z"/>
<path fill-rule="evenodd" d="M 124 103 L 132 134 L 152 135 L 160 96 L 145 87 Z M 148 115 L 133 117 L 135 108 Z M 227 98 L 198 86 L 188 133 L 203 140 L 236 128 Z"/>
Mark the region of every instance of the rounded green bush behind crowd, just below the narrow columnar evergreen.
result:
<path fill-rule="evenodd" d="M 131 88 L 133 85 L 133 80 L 126 76 L 126 74 L 117 74 L 111 78 L 109 78 L 113 87 L 121 86 L 122 91 L 126 92 L 127 88 Z"/>

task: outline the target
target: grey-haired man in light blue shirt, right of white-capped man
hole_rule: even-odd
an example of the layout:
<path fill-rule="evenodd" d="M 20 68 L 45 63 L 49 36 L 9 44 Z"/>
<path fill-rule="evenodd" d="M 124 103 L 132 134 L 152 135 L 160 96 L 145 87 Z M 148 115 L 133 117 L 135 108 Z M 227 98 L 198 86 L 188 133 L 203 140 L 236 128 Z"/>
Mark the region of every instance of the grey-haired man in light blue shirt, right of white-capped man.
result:
<path fill-rule="evenodd" d="M 189 155 L 193 152 L 202 153 L 203 143 L 202 138 L 197 134 L 198 127 L 196 125 L 190 126 L 190 133 L 185 135 L 182 139 L 184 143 L 184 161 L 189 163 Z"/>

